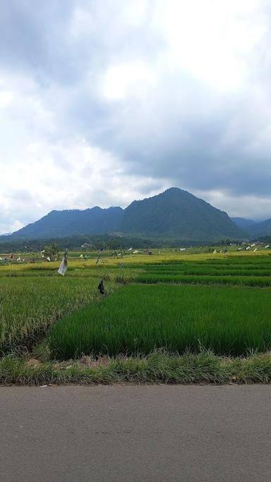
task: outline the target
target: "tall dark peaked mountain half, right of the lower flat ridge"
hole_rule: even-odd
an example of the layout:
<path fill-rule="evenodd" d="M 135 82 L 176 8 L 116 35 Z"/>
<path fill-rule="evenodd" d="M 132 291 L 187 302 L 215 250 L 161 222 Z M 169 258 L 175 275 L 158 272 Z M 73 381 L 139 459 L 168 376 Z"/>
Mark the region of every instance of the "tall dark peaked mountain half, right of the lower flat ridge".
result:
<path fill-rule="evenodd" d="M 124 210 L 121 231 L 198 241 L 244 236 L 226 212 L 179 188 L 133 201 Z"/>

